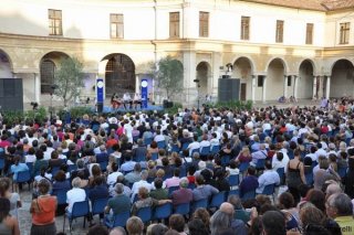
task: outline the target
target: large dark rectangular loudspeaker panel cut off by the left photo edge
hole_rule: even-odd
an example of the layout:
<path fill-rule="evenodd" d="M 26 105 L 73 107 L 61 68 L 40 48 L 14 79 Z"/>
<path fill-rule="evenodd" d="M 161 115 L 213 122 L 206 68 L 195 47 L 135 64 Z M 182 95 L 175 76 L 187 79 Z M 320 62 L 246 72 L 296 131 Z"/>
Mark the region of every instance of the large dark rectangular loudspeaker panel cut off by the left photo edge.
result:
<path fill-rule="evenodd" d="M 22 78 L 0 79 L 0 106 L 1 110 L 23 110 Z"/>

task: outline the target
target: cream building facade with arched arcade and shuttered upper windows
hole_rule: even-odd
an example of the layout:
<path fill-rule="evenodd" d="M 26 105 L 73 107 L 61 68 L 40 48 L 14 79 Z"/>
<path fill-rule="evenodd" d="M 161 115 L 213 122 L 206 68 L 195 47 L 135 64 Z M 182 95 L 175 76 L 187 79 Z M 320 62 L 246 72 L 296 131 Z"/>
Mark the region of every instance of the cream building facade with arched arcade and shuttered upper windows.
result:
<path fill-rule="evenodd" d="M 43 103 L 60 60 L 77 57 L 82 97 L 95 96 L 96 77 L 106 97 L 138 90 L 142 78 L 158 95 L 150 65 L 170 55 L 184 66 L 175 97 L 184 104 L 217 97 L 222 75 L 240 78 L 243 100 L 354 96 L 353 9 L 353 0 L 2 0 L 0 78 L 23 78 L 23 102 Z"/>

